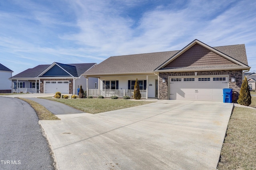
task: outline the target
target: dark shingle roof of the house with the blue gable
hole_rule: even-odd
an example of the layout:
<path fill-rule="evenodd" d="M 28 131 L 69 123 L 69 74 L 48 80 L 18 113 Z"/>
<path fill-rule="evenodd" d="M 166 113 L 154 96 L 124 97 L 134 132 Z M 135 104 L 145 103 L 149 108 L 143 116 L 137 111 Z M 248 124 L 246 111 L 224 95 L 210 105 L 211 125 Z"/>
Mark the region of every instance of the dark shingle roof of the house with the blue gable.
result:
<path fill-rule="evenodd" d="M 90 69 L 96 63 L 78 63 L 78 64 L 56 63 L 56 64 L 60 65 L 60 67 L 68 71 L 68 73 L 70 73 L 74 77 L 79 77 L 82 73 Z M 48 67 L 50 67 L 50 64 L 38 65 L 32 69 L 26 69 L 25 71 L 22 71 L 21 73 L 18 73 L 17 75 L 14 75 L 11 78 L 34 78 L 40 75 Z"/>

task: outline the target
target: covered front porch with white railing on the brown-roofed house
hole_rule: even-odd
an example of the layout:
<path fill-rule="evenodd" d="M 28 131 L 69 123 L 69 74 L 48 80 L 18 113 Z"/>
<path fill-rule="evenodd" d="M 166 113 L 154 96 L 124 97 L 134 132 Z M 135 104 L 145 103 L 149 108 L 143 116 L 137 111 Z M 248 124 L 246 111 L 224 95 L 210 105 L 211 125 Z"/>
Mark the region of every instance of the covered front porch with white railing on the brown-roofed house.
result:
<path fill-rule="evenodd" d="M 138 79 L 142 99 L 158 98 L 158 75 L 155 74 L 108 75 L 97 78 L 99 84 L 98 88 L 87 88 L 87 96 L 117 96 L 120 98 L 124 96 L 133 97 L 135 80 Z"/>

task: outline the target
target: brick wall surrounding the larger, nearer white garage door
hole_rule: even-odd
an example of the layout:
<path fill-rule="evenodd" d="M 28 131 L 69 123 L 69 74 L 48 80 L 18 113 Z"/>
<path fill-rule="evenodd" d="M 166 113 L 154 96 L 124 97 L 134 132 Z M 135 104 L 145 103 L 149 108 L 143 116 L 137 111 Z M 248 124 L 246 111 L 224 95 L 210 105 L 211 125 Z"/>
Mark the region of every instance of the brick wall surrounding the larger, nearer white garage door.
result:
<path fill-rule="evenodd" d="M 242 70 L 223 70 L 223 71 L 197 71 L 197 76 L 200 75 L 229 75 L 229 88 L 233 89 L 232 100 L 237 101 L 240 88 L 242 85 Z M 170 76 L 195 76 L 194 71 L 190 72 L 170 72 L 159 73 L 159 96 L 160 100 L 168 99 L 168 77 Z M 231 82 L 231 78 L 235 77 L 236 82 Z M 166 79 L 166 83 L 162 82 L 162 79 Z"/>

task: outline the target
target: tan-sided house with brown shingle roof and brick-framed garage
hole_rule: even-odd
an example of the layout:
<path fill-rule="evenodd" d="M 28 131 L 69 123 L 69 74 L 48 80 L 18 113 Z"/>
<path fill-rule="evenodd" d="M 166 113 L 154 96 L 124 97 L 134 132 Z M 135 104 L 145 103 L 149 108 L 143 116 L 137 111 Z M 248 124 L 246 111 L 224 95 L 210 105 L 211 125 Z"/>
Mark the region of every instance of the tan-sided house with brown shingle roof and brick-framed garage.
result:
<path fill-rule="evenodd" d="M 87 89 L 92 96 L 132 96 L 138 78 L 142 98 L 223 101 L 222 89 L 232 88 L 236 101 L 249 69 L 244 44 L 194 40 L 178 51 L 109 57 L 82 75 L 99 79 L 99 89 Z"/>

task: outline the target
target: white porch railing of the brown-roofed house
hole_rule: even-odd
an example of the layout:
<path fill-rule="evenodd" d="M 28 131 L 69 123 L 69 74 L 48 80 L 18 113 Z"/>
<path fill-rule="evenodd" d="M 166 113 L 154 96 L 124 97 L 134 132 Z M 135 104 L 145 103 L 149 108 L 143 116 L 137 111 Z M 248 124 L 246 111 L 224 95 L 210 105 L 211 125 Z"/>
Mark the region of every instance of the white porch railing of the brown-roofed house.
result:
<path fill-rule="evenodd" d="M 104 96 L 104 97 L 111 97 L 111 96 L 117 96 L 117 97 L 124 97 L 129 96 L 133 97 L 133 91 L 134 90 L 110 90 L 110 89 L 88 89 L 87 95 L 88 96 Z M 147 90 L 140 90 L 141 98 L 146 98 Z"/>

